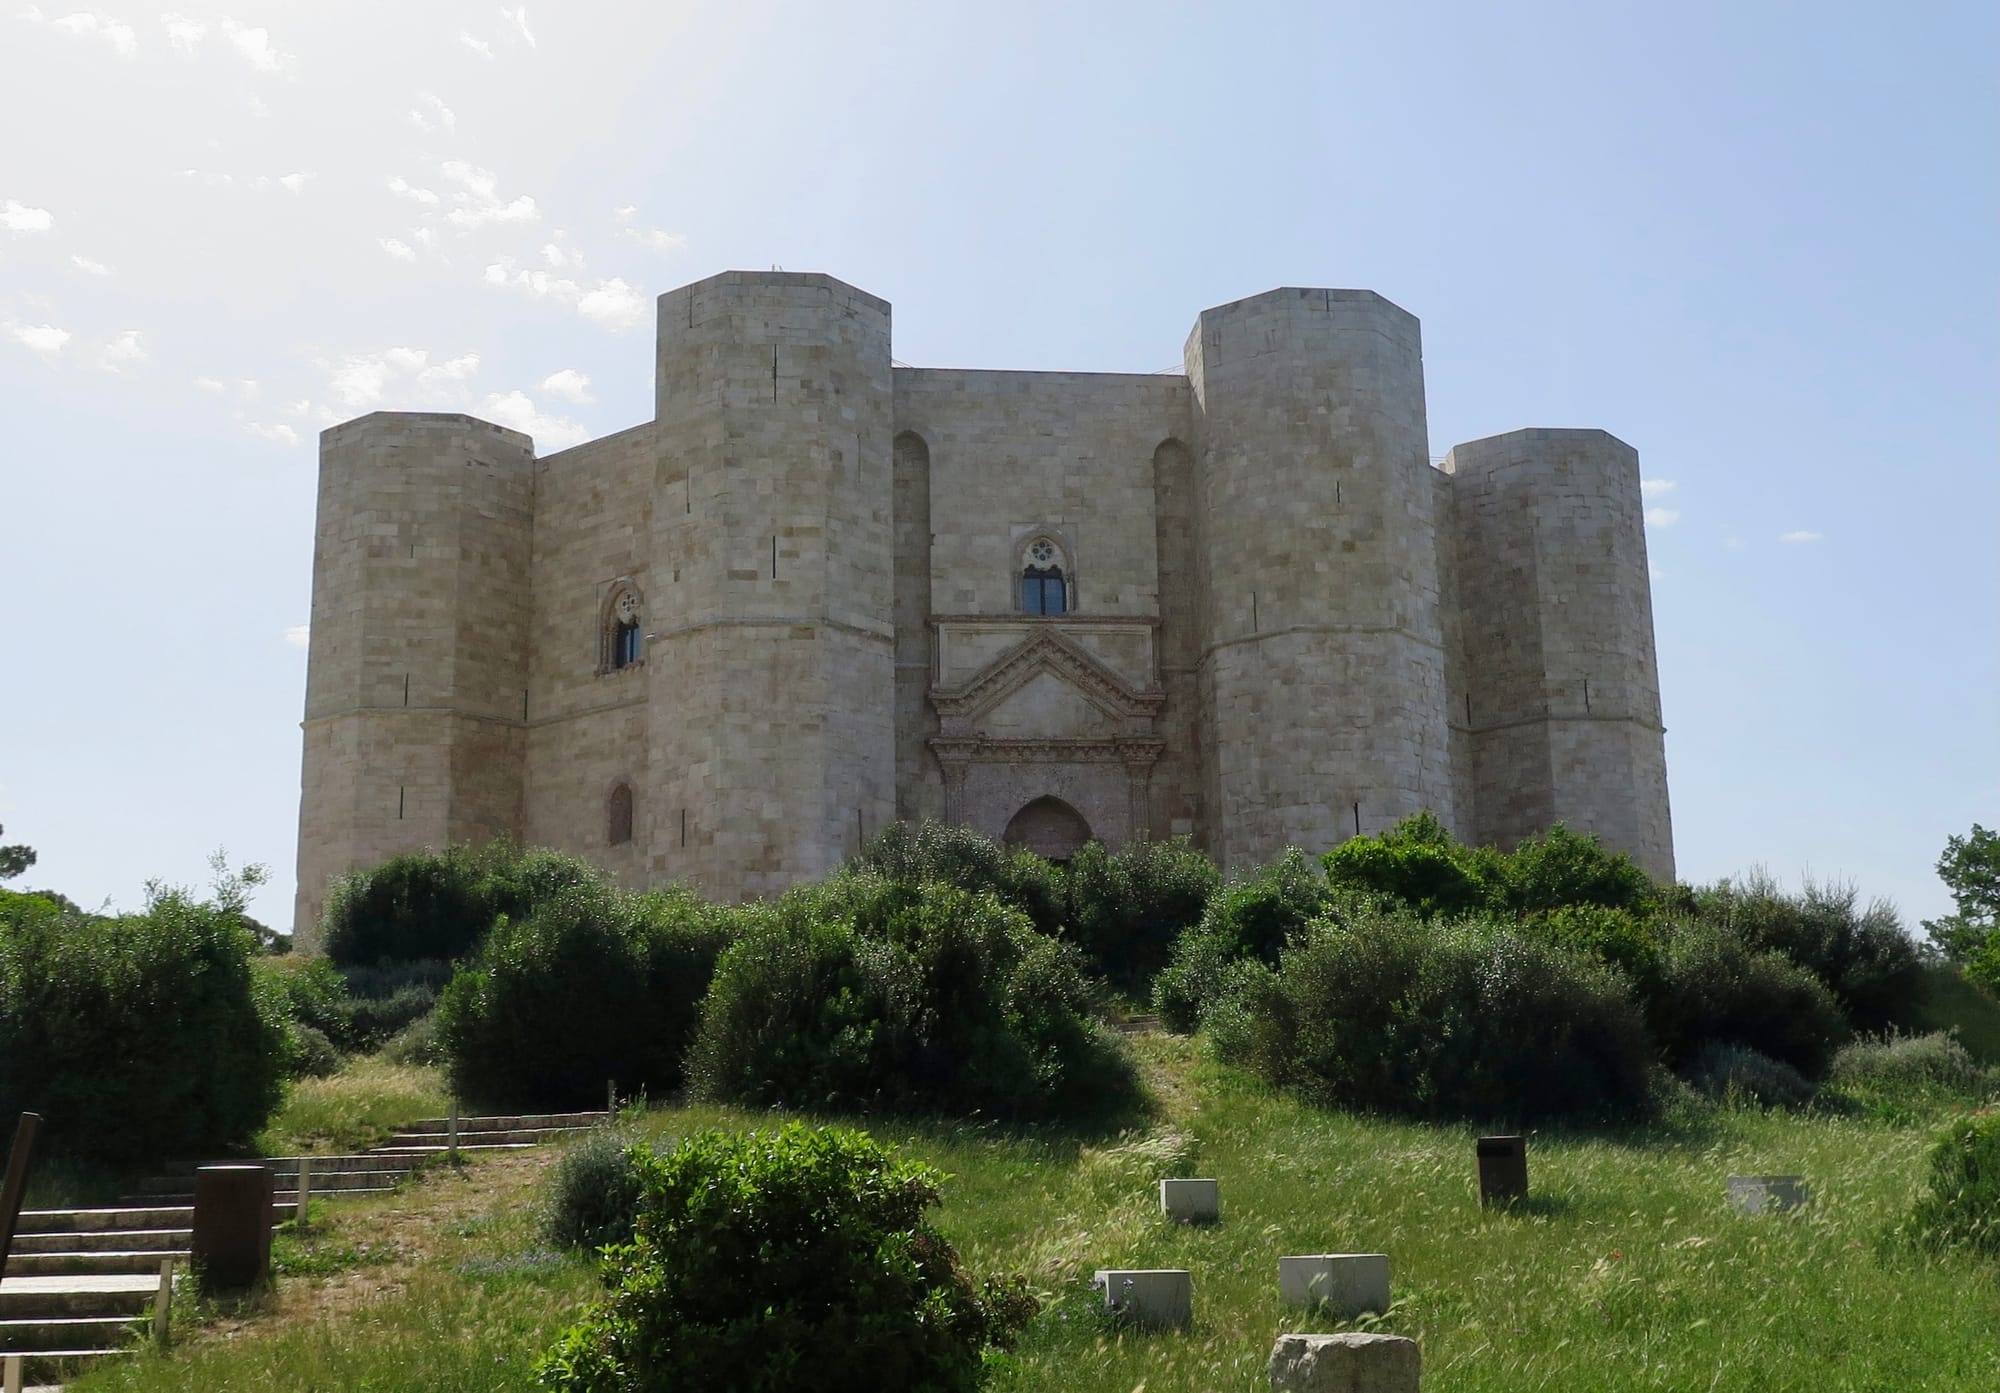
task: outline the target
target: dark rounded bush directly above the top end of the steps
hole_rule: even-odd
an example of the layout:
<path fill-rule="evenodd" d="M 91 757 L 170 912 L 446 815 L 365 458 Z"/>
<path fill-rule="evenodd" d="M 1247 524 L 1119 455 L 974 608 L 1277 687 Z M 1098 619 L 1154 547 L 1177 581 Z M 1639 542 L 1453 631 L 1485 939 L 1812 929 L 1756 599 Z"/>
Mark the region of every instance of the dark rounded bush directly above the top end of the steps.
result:
<path fill-rule="evenodd" d="M 438 1001 L 452 1087 L 508 1107 L 578 1107 L 604 1083 L 672 1093 L 726 911 L 686 893 L 570 885 L 502 919 Z"/>

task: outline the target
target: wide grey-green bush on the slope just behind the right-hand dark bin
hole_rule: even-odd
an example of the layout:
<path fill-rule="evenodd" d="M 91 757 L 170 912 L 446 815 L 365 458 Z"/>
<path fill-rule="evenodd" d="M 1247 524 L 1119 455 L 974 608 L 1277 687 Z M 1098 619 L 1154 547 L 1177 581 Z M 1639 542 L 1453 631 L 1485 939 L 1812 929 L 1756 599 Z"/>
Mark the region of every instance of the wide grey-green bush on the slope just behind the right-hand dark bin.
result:
<path fill-rule="evenodd" d="M 1652 1051 L 1624 981 L 1498 925 L 1348 909 L 1238 985 L 1226 1049 L 1324 1103 L 1512 1119 L 1646 1107 Z"/>

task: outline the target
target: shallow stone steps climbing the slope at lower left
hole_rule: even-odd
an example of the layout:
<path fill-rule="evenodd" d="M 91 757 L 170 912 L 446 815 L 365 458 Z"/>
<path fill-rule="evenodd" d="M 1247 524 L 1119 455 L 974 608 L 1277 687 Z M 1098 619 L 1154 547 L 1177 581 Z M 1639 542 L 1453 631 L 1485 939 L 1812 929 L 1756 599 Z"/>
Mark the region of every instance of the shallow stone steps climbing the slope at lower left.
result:
<path fill-rule="evenodd" d="M 606 1121 L 606 1113 L 460 1117 L 460 1153 L 526 1151 Z M 426 1161 L 452 1151 L 452 1119 L 398 1129 L 386 1143 L 350 1157 L 272 1157 L 276 1209 L 298 1213 L 300 1161 L 314 1199 L 386 1195 Z M 160 1263 L 186 1267 L 194 1225 L 196 1163 L 148 1177 L 114 1209 L 24 1209 L 6 1279 L 0 1281 L 0 1369 L 20 1357 L 20 1377 L 56 1389 L 64 1375 L 124 1353 L 160 1293 Z M 6 1369 L 14 1377 L 12 1369 Z M 6 1385 L 12 1389 L 12 1385 Z"/>

